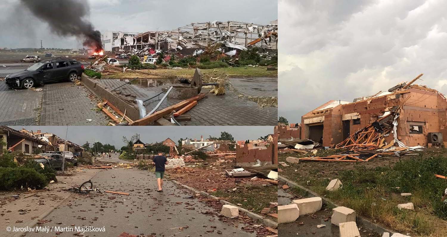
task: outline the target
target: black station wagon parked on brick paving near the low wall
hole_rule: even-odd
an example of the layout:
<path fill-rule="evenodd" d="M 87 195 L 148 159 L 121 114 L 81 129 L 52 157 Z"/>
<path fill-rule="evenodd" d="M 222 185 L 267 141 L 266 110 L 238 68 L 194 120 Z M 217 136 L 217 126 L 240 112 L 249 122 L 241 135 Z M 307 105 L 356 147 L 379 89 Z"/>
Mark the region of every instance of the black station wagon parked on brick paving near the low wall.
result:
<path fill-rule="evenodd" d="M 35 63 L 24 71 L 9 74 L 5 82 L 10 88 L 29 89 L 48 82 L 74 82 L 83 72 L 84 65 L 74 59 L 49 59 Z"/>

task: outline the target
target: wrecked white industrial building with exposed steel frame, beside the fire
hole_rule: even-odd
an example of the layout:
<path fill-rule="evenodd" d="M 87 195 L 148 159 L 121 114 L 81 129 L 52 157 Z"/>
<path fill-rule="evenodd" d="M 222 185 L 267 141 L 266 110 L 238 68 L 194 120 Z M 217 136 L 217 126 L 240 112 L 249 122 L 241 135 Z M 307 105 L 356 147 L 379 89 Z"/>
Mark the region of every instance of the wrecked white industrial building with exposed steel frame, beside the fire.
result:
<path fill-rule="evenodd" d="M 223 47 L 227 47 L 224 52 L 234 55 L 235 49 L 246 50 L 249 46 L 261 47 L 266 51 L 277 50 L 277 36 L 278 20 L 271 21 L 269 25 L 209 21 L 165 31 L 107 31 L 103 37 L 103 46 L 105 51 L 113 53 L 143 51 L 143 55 L 148 55 L 149 49 L 153 49 L 190 55 L 203 52 L 210 44 L 221 42 Z"/>

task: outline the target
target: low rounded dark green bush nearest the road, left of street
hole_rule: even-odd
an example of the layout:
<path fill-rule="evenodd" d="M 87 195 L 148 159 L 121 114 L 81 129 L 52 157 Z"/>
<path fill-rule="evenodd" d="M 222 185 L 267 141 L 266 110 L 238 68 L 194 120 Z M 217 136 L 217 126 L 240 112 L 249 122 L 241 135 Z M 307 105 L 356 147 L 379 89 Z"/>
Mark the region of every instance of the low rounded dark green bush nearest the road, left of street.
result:
<path fill-rule="evenodd" d="M 20 189 L 21 187 L 42 189 L 48 183 L 49 180 L 46 176 L 33 168 L 0 168 L 0 190 Z"/>

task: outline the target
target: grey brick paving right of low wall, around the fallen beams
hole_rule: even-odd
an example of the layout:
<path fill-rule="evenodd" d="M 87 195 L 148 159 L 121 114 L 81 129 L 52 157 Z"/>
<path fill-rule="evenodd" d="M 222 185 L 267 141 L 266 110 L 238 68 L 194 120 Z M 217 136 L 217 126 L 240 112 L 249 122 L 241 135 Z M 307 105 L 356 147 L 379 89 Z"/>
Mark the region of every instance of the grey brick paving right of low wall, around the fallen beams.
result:
<path fill-rule="evenodd" d="M 272 79 L 275 80 L 276 78 Z M 104 79 L 99 82 L 108 88 L 114 88 L 124 83 L 124 80 Z M 172 81 L 169 81 L 172 83 Z M 165 84 L 158 87 L 146 87 L 140 83 L 137 85 L 125 85 L 119 88 L 122 94 L 135 95 L 138 99 L 147 99 L 162 91 L 162 87 L 169 86 Z M 258 87 L 259 85 L 257 85 Z M 262 87 L 262 85 L 261 85 Z M 238 88 L 239 89 L 239 88 Z M 273 89 L 274 90 L 274 89 Z M 202 92 L 209 89 L 202 89 Z M 255 92 L 254 90 L 253 92 Z M 264 92 L 260 92 L 264 96 Z M 254 95 L 254 94 L 250 94 Z M 275 95 L 275 94 L 274 94 Z M 160 98 L 163 94 L 160 95 Z M 159 110 L 181 102 L 182 100 L 166 98 L 161 104 Z M 144 104 L 146 111 L 151 111 L 159 101 L 152 99 Z M 261 108 L 256 102 L 240 99 L 236 93 L 227 89 L 226 94 L 215 96 L 208 94 L 198 102 L 198 105 L 188 112 L 191 121 L 181 122 L 182 125 L 190 126 L 274 126 L 277 123 L 278 109 L 276 107 Z"/>

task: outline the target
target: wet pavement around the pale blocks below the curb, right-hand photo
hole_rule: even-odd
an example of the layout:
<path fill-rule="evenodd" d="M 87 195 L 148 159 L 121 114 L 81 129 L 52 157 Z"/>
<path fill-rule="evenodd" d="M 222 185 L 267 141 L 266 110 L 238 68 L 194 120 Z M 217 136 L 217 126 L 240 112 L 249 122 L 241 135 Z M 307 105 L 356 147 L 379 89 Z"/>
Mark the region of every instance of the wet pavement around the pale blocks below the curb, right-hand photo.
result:
<path fill-rule="evenodd" d="M 278 204 L 291 204 L 292 200 L 302 199 L 305 197 L 297 197 L 285 192 L 283 189 L 278 189 Z M 328 208 L 323 202 L 323 207 L 320 211 L 312 214 L 299 216 L 295 222 L 279 224 L 278 236 L 296 236 L 296 237 L 340 237 L 338 226 L 331 224 L 332 208 Z M 317 228 L 319 224 L 325 224 L 325 227 Z M 361 237 L 380 237 L 379 234 L 371 232 L 362 225 L 357 224 L 360 228 Z"/>

